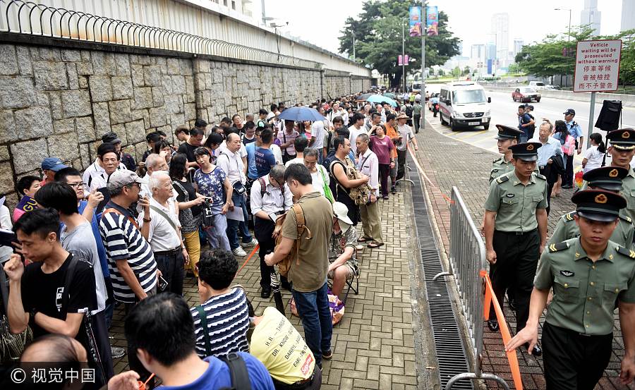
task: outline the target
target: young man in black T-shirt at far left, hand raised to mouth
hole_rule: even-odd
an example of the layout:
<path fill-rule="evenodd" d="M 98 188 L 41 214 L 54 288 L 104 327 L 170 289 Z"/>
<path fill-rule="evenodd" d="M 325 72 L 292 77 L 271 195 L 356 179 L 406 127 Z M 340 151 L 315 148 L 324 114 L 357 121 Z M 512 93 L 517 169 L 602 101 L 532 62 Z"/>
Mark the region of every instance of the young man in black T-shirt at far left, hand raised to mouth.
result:
<path fill-rule="evenodd" d="M 94 362 L 84 317 L 85 310 L 97 309 L 92 265 L 62 248 L 59 217 L 53 209 L 25 214 L 13 230 L 24 257 L 32 263 L 24 267 L 20 255 L 13 254 L 4 264 L 9 279 L 7 317 L 11 331 L 17 334 L 30 325 L 34 338 L 44 334 L 73 337 Z"/>

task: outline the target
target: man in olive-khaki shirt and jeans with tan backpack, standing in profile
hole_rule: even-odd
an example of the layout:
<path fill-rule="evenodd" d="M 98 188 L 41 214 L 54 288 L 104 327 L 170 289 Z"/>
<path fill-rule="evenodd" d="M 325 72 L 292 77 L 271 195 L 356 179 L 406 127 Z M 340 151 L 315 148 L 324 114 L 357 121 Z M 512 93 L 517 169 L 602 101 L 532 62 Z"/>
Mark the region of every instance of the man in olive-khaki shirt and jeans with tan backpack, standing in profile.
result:
<path fill-rule="evenodd" d="M 265 256 L 265 262 L 273 266 L 287 258 L 289 253 L 293 256 L 289 261 L 288 273 L 293 286 L 291 292 L 302 319 L 306 343 L 315 355 L 317 366 L 322 367 L 322 359 L 330 360 L 333 356 L 333 326 L 326 282 L 333 207 L 326 197 L 313 188 L 311 173 L 306 166 L 289 166 L 284 172 L 284 182 L 298 202 L 294 205 L 294 211 L 286 214 L 282 240 L 275 252 Z M 296 210 L 296 206 L 300 210 Z"/>

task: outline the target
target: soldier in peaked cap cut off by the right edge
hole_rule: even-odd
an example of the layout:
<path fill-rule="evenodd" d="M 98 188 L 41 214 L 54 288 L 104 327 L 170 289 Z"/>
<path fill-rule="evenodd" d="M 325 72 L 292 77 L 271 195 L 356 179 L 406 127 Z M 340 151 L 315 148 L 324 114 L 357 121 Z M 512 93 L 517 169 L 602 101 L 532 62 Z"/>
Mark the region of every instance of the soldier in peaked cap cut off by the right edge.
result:
<path fill-rule="evenodd" d="M 628 175 L 622 180 L 622 195 L 627 200 L 625 215 L 635 221 L 635 171 L 631 168 L 631 159 L 635 154 L 635 130 L 620 128 L 606 135 L 610 140 L 608 152 L 611 154 L 611 166 L 628 169 Z"/>

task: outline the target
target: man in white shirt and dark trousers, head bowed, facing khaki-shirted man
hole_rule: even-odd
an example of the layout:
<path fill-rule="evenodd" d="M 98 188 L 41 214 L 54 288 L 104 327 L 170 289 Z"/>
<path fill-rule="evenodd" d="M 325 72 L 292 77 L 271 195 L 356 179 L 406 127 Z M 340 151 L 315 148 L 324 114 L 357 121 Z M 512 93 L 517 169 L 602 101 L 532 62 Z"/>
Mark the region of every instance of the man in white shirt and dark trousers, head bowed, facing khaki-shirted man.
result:
<path fill-rule="evenodd" d="M 298 164 L 299 165 L 299 164 Z M 276 219 L 293 205 L 293 195 L 284 183 L 284 165 L 275 165 L 268 175 L 258 178 L 251 185 L 251 214 L 253 214 L 253 233 L 260 243 L 260 286 L 262 298 L 271 295 L 271 272 L 273 267 L 265 263 L 265 255 L 273 252 L 275 243 L 272 238 Z"/>

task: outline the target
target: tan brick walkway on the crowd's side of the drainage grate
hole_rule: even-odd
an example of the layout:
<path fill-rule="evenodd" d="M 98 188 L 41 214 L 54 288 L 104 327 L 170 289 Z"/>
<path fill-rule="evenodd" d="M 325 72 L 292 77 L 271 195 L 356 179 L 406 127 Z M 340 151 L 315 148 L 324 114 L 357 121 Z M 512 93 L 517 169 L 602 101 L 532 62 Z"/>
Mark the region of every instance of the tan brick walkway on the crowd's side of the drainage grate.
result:
<path fill-rule="evenodd" d="M 409 196 L 409 195 L 408 195 Z M 411 284 L 408 248 L 401 243 L 409 237 L 409 212 L 404 194 L 380 200 L 382 233 L 386 245 L 360 252 L 359 295 L 352 291 L 346 302 L 344 317 L 333 329 L 333 359 L 323 365 L 322 390 L 417 389 Z M 358 226 L 361 232 L 361 224 Z M 253 248 L 245 248 L 250 253 Z M 246 257 L 238 258 L 243 264 Z M 418 261 L 418 260 L 417 260 Z M 256 253 L 236 276 L 235 283 L 247 291 L 257 315 L 273 298 L 260 298 L 260 270 Z M 190 305 L 198 305 L 198 289 L 193 276 L 186 277 L 184 295 Z M 300 319 L 291 315 L 291 293 L 284 291 L 286 317 L 302 335 Z M 126 347 L 123 336 L 123 307 L 115 311 L 111 334 L 114 345 Z M 128 370 L 128 355 L 115 360 L 115 372 Z"/>

